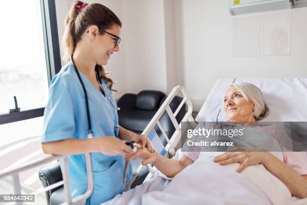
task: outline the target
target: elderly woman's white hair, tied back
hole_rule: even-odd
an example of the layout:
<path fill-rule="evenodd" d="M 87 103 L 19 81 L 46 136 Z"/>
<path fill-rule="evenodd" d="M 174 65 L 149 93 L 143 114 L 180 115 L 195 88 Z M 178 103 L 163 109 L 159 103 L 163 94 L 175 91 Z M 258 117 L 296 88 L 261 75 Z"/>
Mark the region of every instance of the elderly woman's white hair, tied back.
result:
<path fill-rule="evenodd" d="M 261 90 L 256 85 L 242 82 L 238 84 L 233 83 L 230 86 L 234 86 L 237 90 L 239 90 L 239 92 L 241 92 L 244 99 L 255 105 L 253 116 L 255 117 L 256 121 L 262 120 L 268 115 L 269 108 L 263 99 Z"/>

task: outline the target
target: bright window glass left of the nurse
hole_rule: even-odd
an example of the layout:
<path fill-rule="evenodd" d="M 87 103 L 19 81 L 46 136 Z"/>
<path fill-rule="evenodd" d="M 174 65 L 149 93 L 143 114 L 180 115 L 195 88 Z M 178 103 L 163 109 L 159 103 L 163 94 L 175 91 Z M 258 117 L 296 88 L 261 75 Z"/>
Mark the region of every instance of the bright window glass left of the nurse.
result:
<path fill-rule="evenodd" d="M 6 19 L 0 22 L 0 113 L 14 108 L 14 95 L 22 110 L 44 107 L 48 77 L 40 2 L 9 1 L 6 8 L 12 10 L 0 13 Z"/>

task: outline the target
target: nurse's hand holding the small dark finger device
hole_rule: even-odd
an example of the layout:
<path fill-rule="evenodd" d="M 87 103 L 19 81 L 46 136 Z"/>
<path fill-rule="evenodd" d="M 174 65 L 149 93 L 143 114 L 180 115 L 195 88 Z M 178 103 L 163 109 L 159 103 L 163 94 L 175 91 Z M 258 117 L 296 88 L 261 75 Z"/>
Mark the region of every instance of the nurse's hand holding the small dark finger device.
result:
<path fill-rule="evenodd" d="M 105 155 L 129 155 L 133 153 L 130 146 L 126 145 L 124 141 L 119 140 L 116 137 L 99 137 L 94 138 L 94 146 L 97 146 L 98 152 Z"/>

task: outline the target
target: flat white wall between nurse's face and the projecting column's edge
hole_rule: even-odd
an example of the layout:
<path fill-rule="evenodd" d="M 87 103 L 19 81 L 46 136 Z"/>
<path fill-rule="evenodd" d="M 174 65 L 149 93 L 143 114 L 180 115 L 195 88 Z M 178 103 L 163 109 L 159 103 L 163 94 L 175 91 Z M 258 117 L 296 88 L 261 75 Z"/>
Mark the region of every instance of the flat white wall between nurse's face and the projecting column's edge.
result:
<path fill-rule="evenodd" d="M 163 0 L 123 1 L 125 66 L 129 92 L 167 91 Z"/>

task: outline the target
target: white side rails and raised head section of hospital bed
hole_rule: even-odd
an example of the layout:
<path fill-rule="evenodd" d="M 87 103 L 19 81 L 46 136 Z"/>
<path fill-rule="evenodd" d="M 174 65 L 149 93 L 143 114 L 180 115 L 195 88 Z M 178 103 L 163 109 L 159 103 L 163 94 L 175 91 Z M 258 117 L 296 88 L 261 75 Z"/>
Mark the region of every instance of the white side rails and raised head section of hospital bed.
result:
<path fill-rule="evenodd" d="M 223 96 L 224 91 L 226 88 L 232 83 L 238 82 L 250 82 L 257 85 L 263 92 L 265 101 L 270 108 L 269 116 L 264 119 L 264 121 L 294 121 L 294 122 L 307 122 L 307 79 L 303 78 L 282 78 L 282 79 L 223 79 L 218 80 L 214 87 L 212 88 L 211 92 L 209 93 L 204 105 L 202 106 L 198 116 L 196 117 L 196 121 L 207 121 L 207 122 L 215 122 L 215 121 L 223 121 L 223 116 L 221 115 L 221 99 Z M 277 89 L 276 89 L 277 88 Z M 295 92 L 293 91 L 295 90 Z M 170 102 L 174 98 L 175 95 L 183 96 L 183 100 L 177 110 L 173 113 L 169 107 Z M 170 149 L 178 150 L 180 146 L 180 139 L 181 139 L 181 124 L 177 123 L 175 117 L 178 114 L 181 107 L 186 104 L 186 115 L 184 116 L 182 122 L 193 121 L 192 118 L 192 102 L 187 96 L 186 90 L 182 86 L 176 86 L 169 94 L 159 111 L 156 115 L 151 119 L 150 123 L 147 125 L 145 130 L 143 131 L 143 135 L 148 135 L 149 132 L 158 125 L 160 130 L 162 131 L 163 135 L 165 136 L 168 144 L 166 145 L 165 149 L 169 151 Z M 169 139 L 164 132 L 163 127 L 159 123 L 160 117 L 163 115 L 164 112 L 167 112 L 169 117 L 172 120 L 172 123 L 176 129 L 172 137 Z M 182 154 L 180 150 L 177 151 L 177 154 Z M 38 192 L 43 192 L 46 190 L 53 189 L 57 186 L 64 185 L 65 191 L 65 201 L 69 204 L 84 204 L 87 197 L 90 196 L 92 189 L 93 189 L 93 177 L 91 172 L 91 159 L 89 154 L 85 154 L 86 156 L 86 169 L 87 171 L 87 180 L 88 180 L 88 188 L 83 195 L 80 195 L 76 198 L 71 197 L 71 190 L 70 187 L 66 184 L 69 184 L 69 174 L 68 174 L 68 165 L 67 165 L 67 156 L 47 156 L 43 159 L 36 160 L 33 162 L 29 162 L 27 164 L 23 164 L 19 167 L 4 170 L 0 172 L 0 178 L 5 176 L 12 176 L 13 177 L 13 186 L 14 192 L 19 194 L 21 193 L 21 185 L 19 182 L 19 172 L 28 170 L 33 167 L 41 166 L 47 162 L 54 161 L 59 159 L 62 161 L 63 167 L 63 180 L 57 182 L 56 184 L 52 184 L 44 189 L 38 190 Z M 169 153 L 166 154 L 167 157 L 170 157 Z M 133 180 L 136 178 L 137 173 L 140 171 L 142 166 L 140 165 L 133 175 L 132 180 L 128 185 L 130 185 Z M 155 169 L 155 167 L 154 167 Z M 152 174 L 149 173 L 145 179 L 149 181 L 152 178 Z M 305 203 L 300 204 L 307 204 Z M 298 204 L 298 203 L 297 203 Z"/>

